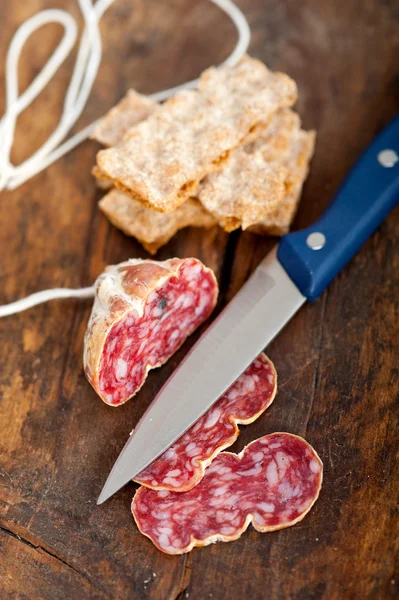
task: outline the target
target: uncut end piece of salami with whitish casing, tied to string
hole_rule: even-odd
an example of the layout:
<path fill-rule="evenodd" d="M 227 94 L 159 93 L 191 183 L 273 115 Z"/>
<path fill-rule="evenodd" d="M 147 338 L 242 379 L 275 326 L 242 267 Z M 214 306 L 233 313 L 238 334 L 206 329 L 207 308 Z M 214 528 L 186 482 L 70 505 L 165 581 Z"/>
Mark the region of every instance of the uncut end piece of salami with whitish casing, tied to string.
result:
<path fill-rule="evenodd" d="M 112 406 L 126 402 L 212 312 L 218 285 L 195 258 L 131 259 L 107 267 L 84 344 L 87 379 Z"/>

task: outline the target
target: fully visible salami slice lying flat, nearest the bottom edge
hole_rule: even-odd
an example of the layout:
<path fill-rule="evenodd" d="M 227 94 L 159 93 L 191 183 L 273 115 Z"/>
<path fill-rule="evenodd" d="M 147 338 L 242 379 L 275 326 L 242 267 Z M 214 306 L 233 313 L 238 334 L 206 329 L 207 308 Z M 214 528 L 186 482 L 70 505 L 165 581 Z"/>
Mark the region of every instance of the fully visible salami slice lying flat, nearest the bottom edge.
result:
<path fill-rule="evenodd" d="M 294 525 L 318 498 L 323 465 L 302 438 L 273 433 L 240 454 L 222 452 L 189 492 L 141 487 L 132 513 L 141 533 L 167 554 Z"/>

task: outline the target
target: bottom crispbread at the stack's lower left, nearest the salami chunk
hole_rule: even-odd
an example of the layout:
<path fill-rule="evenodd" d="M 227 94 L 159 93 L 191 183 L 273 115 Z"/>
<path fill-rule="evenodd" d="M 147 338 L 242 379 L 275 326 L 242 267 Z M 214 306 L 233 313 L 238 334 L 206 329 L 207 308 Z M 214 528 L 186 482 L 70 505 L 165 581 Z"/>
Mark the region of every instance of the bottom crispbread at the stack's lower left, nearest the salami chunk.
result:
<path fill-rule="evenodd" d="M 116 227 L 135 237 L 151 254 L 166 244 L 184 227 L 211 227 L 215 219 L 190 198 L 175 211 L 160 213 L 132 200 L 119 190 L 112 190 L 99 203 L 103 213 Z"/>

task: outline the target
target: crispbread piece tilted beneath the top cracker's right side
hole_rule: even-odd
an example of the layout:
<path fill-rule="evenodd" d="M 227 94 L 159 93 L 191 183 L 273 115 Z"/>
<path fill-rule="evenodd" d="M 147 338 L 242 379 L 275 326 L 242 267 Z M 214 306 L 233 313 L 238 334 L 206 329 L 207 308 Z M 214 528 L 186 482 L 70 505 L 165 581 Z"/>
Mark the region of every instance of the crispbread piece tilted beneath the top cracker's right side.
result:
<path fill-rule="evenodd" d="M 313 142 L 299 116 L 280 109 L 255 141 L 233 150 L 222 170 L 205 177 L 198 198 L 226 231 L 289 227 Z"/>

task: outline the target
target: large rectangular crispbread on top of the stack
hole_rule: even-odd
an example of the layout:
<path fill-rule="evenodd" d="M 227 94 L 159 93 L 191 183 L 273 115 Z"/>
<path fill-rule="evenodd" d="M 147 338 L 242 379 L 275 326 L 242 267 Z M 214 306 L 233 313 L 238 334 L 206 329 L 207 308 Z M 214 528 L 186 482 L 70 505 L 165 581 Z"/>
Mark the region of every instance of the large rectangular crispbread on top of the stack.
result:
<path fill-rule="evenodd" d="M 120 144 L 100 151 L 97 165 L 133 199 L 161 212 L 174 210 L 296 95 L 292 79 L 249 57 L 234 67 L 208 69 L 198 91 L 165 102 Z"/>

